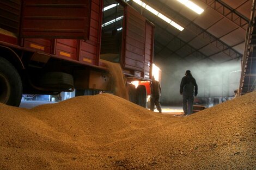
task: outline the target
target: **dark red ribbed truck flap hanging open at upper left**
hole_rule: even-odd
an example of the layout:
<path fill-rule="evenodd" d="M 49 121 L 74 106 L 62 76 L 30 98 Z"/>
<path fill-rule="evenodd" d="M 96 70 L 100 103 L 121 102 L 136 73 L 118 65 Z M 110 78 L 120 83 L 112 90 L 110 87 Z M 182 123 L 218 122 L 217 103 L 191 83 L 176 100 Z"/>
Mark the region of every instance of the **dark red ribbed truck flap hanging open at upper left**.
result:
<path fill-rule="evenodd" d="M 23 1 L 21 36 L 88 39 L 90 1 Z"/>

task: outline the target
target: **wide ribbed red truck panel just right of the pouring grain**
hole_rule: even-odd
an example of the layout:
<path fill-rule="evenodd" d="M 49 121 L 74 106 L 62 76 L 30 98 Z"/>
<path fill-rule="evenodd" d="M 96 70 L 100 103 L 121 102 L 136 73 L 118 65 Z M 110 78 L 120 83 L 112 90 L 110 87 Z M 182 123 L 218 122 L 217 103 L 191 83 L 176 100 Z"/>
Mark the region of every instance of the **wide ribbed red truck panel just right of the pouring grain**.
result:
<path fill-rule="evenodd" d="M 125 10 L 124 68 L 144 72 L 145 18 L 129 6 Z"/>

